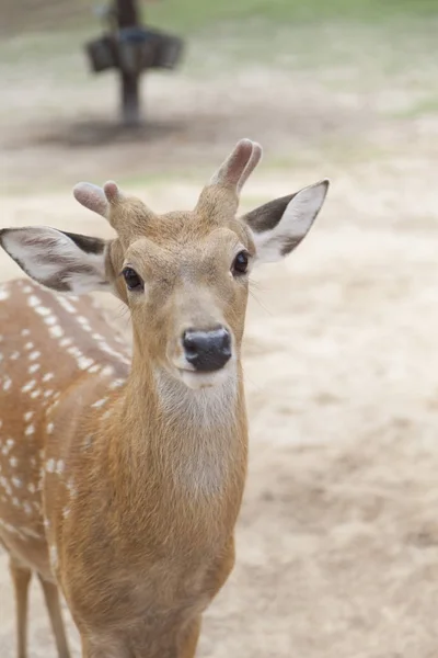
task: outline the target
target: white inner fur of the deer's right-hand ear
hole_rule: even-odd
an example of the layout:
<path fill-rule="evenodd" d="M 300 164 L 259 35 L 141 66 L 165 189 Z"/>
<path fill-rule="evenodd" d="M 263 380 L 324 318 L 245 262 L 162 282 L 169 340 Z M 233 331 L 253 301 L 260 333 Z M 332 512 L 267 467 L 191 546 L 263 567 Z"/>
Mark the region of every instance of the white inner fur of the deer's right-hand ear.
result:
<path fill-rule="evenodd" d="M 256 262 L 276 262 L 292 251 L 309 232 L 324 203 L 328 181 L 324 180 L 297 192 L 276 226 L 253 232 Z"/>

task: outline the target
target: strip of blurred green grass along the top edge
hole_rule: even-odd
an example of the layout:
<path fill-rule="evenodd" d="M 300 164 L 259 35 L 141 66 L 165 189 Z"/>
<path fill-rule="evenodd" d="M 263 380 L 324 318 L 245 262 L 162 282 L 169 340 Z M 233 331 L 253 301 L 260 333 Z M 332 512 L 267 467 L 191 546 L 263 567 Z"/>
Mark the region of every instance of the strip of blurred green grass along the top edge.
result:
<path fill-rule="evenodd" d="M 108 0 L 2 0 L 2 37 L 23 32 L 59 32 L 99 25 L 95 8 Z M 279 22 L 355 20 L 380 22 L 401 14 L 431 15 L 436 0 L 138 0 L 148 22 L 182 34 L 249 19 Z"/>

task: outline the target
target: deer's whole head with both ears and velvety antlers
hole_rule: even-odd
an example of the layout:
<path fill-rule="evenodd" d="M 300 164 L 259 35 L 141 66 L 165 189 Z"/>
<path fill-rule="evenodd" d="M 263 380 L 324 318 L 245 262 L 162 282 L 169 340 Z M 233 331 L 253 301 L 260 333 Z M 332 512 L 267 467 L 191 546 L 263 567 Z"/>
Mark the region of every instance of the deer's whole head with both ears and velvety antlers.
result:
<path fill-rule="evenodd" d="M 324 201 L 327 181 L 237 217 L 240 189 L 261 158 L 240 141 L 194 211 L 155 215 L 108 182 L 74 195 L 117 232 L 104 241 L 53 228 L 3 229 L 2 247 L 41 284 L 110 290 L 130 311 L 135 353 L 191 388 L 235 375 L 251 271 L 287 256 Z"/>

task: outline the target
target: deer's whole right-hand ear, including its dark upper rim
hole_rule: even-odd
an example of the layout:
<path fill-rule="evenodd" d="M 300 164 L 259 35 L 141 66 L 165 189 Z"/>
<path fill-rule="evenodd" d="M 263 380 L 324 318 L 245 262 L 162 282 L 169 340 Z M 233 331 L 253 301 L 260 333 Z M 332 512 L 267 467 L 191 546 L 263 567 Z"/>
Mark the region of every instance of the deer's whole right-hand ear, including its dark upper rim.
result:
<path fill-rule="evenodd" d="M 323 180 L 242 217 L 253 235 L 256 262 L 281 260 L 301 242 L 324 203 L 327 189 L 328 181 Z"/>

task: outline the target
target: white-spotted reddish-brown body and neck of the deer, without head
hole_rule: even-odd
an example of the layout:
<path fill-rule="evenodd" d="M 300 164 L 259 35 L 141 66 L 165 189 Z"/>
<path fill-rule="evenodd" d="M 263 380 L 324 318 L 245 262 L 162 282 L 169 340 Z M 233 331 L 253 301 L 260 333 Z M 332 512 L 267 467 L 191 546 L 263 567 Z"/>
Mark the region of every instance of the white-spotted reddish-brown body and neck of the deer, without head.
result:
<path fill-rule="evenodd" d="M 2 334 L 7 547 L 45 580 L 55 576 L 79 627 L 92 619 L 94 635 L 113 644 L 138 625 L 147 647 L 161 626 L 176 643 L 174 627 L 201 613 L 232 567 L 246 463 L 241 385 L 224 399 L 174 390 L 178 401 L 163 416 L 153 376 L 146 368 L 131 383 L 120 339 L 87 296 L 15 281 L 0 298 L 11 328 Z M 165 649 L 158 644 L 157 655 Z"/>

